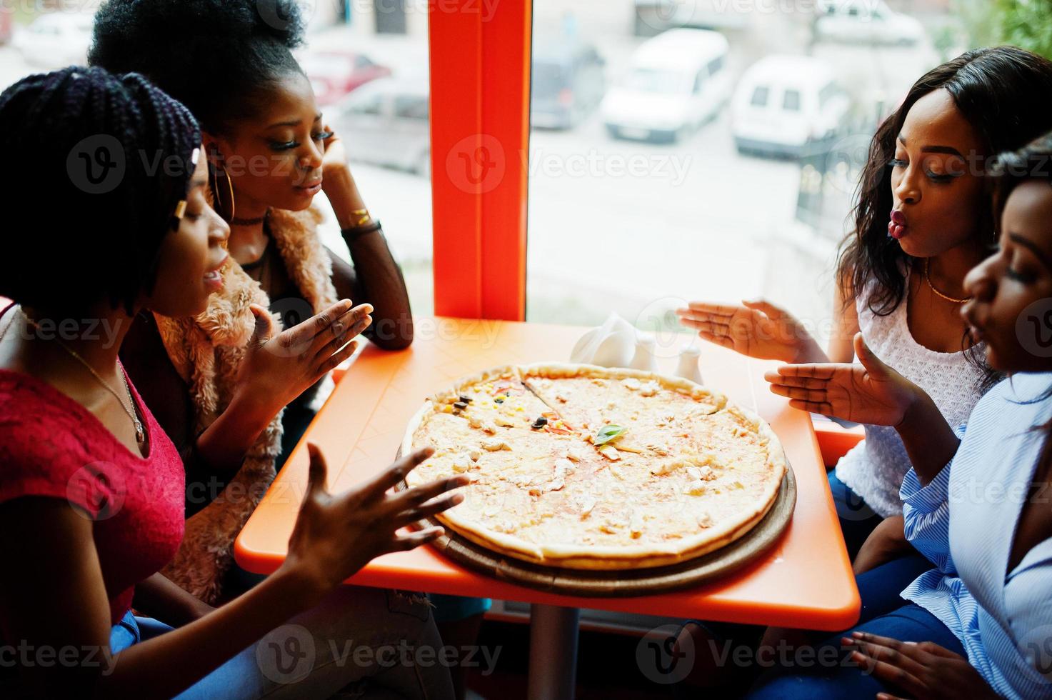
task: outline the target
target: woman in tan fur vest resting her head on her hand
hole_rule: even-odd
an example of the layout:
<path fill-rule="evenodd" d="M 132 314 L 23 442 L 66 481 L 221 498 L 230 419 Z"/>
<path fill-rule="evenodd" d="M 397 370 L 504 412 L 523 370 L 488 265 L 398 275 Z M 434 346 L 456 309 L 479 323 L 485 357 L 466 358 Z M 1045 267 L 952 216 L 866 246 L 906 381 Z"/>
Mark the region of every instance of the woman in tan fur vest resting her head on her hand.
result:
<path fill-rule="evenodd" d="M 112 0 L 96 15 L 89 62 L 145 75 L 198 118 L 210 203 L 230 226 L 229 262 L 207 309 L 140 314 L 121 348 L 186 464 L 186 535 L 162 573 L 207 603 L 237 572 L 234 539 L 347 341 L 363 329 L 386 349 L 412 340 L 401 271 L 290 53 L 302 34 L 291 0 Z M 353 265 L 319 240 L 311 201 L 322 189 Z M 325 354 L 286 346 L 282 327 L 316 315 L 333 329 Z"/>

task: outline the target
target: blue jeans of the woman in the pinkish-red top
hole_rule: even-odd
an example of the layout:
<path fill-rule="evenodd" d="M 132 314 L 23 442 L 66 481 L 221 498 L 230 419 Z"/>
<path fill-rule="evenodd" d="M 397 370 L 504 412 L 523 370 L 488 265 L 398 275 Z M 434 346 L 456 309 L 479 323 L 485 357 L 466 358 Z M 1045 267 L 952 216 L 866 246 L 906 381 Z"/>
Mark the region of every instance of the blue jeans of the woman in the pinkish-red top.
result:
<path fill-rule="evenodd" d="M 114 653 L 171 632 L 125 614 L 109 635 Z M 327 698 L 345 691 L 382 698 L 452 698 L 442 640 L 422 596 L 342 586 L 282 624 L 177 697 Z M 358 697 L 357 695 L 355 697 Z"/>

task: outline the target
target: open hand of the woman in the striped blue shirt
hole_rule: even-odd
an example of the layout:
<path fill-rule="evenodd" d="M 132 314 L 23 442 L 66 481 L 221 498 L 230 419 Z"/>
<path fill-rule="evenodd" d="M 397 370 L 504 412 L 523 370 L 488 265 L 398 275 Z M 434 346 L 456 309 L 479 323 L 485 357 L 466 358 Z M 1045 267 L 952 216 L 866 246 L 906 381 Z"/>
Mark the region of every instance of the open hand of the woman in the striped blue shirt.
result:
<path fill-rule="evenodd" d="M 854 337 L 857 364 L 787 364 L 768 372 L 771 392 L 802 411 L 870 425 L 898 425 L 922 389 L 882 362 Z"/>

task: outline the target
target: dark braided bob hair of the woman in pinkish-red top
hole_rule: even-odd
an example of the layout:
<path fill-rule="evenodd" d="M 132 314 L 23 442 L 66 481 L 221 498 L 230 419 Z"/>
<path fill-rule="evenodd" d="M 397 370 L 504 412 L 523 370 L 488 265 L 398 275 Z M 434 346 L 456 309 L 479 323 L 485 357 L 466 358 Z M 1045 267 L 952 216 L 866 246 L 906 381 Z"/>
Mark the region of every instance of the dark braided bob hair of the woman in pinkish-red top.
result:
<path fill-rule="evenodd" d="M 3 189 L 25 213 L 0 256 L 0 295 L 49 312 L 153 291 L 201 131 L 143 76 L 72 66 L 0 94 Z"/>

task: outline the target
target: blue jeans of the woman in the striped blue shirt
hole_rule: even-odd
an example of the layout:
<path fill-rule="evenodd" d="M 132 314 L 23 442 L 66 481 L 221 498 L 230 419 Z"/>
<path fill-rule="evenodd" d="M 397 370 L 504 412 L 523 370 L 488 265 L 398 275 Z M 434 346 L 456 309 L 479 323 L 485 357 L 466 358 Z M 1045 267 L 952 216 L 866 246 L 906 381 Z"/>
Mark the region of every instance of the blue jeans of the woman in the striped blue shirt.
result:
<path fill-rule="evenodd" d="M 874 569 L 876 571 L 876 569 Z M 850 651 L 841 646 L 841 637 L 863 631 L 902 641 L 935 642 L 965 655 L 957 638 L 938 618 L 914 603 L 862 623 L 841 635 L 830 637 L 815 647 L 797 666 L 772 669 L 753 685 L 746 696 L 753 700 L 838 700 L 872 698 L 877 693 L 902 693 L 877 680 L 850 660 Z M 802 657 L 801 657 L 802 659 Z"/>

